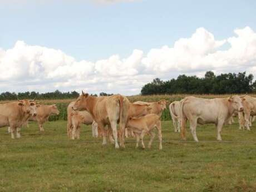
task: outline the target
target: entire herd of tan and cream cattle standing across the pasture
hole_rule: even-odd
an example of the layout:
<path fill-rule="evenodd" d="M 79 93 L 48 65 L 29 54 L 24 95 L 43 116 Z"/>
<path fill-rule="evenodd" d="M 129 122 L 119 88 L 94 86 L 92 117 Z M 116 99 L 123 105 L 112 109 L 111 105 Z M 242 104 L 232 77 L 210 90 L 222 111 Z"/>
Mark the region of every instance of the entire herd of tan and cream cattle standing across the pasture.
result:
<path fill-rule="evenodd" d="M 145 148 L 143 138 L 150 135 L 148 147 L 158 131 L 159 149 L 162 149 L 160 117 L 166 109 L 166 101 L 129 102 L 122 95 L 93 97 L 83 93 L 67 107 L 67 135 L 71 139 L 80 138 L 81 124 L 92 125 L 92 136 L 103 137 L 103 145 L 107 138 L 119 148 L 119 142 L 125 147 L 125 137 L 136 137 L 136 147 Z M 221 130 L 224 124 L 231 124 L 234 116 L 238 116 L 239 129 L 250 130 L 256 116 L 256 98 L 247 95 L 230 96 L 228 98 L 202 99 L 194 96 L 185 97 L 169 105 L 173 119 L 174 131 L 181 132 L 185 140 L 186 122 L 189 121 L 191 134 L 195 141 L 197 124 L 215 124 L 217 140 L 221 141 Z M 18 100 L 0 104 L 0 127 L 8 126 L 11 137 L 21 137 L 21 127 L 28 126 L 28 121 L 37 121 L 40 131 L 50 115 L 58 115 L 56 105 L 39 105 L 34 100 Z M 117 129 L 119 124 L 119 129 Z M 109 129 L 110 128 L 110 129 Z"/>

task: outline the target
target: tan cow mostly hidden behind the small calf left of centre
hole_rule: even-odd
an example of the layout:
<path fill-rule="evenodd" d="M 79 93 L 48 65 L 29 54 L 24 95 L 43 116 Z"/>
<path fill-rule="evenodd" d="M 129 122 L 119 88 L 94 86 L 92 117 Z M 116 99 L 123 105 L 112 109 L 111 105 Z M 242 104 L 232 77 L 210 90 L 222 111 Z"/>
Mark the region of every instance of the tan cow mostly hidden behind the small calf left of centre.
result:
<path fill-rule="evenodd" d="M 67 136 L 71 137 L 72 136 L 72 130 L 73 130 L 73 124 L 71 121 L 71 114 L 77 112 L 79 115 L 83 116 L 82 118 L 82 124 L 85 125 L 92 125 L 92 136 L 97 137 L 98 136 L 98 125 L 97 123 L 92 119 L 92 116 L 89 112 L 87 111 L 74 111 L 72 107 L 74 106 L 75 101 L 72 101 L 68 106 L 67 106 Z"/>

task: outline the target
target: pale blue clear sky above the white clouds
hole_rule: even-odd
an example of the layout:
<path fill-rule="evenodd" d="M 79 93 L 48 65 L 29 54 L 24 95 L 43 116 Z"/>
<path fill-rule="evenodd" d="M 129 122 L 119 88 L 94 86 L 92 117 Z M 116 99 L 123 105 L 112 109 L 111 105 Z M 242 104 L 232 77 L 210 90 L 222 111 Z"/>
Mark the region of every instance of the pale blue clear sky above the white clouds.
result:
<path fill-rule="evenodd" d="M 145 57 L 154 48 L 173 47 L 180 38 L 190 38 L 200 27 L 213 34 L 215 40 L 227 40 L 235 36 L 234 29 L 247 26 L 254 32 L 255 8 L 256 1 L 1 0 L 0 48 L 6 51 L 23 41 L 88 62 L 113 55 L 122 60 L 134 50 L 141 50 Z M 227 50 L 230 46 L 224 43 L 218 49 Z M 178 70 L 173 76 L 183 71 L 186 70 Z M 156 75 L 151 72 L 148 80 Z"/>

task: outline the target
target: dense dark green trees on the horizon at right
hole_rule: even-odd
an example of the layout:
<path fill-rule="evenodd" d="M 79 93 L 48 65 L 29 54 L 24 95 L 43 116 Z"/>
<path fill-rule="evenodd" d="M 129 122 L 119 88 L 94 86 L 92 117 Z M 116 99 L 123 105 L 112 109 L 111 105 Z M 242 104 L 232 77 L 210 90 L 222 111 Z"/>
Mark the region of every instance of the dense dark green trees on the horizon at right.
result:
<path fill-rule="evenodd" d="M 256 93 L 256 81 L 253 75 L 245 72 L 221 73 L 215 75 L 208 71 L 203 78 L 180 75 L 176 79 L 161 81 L 155 78 L 141 89 L 141 95 L 156 94 L 229 94 L 229 93 Z"/>

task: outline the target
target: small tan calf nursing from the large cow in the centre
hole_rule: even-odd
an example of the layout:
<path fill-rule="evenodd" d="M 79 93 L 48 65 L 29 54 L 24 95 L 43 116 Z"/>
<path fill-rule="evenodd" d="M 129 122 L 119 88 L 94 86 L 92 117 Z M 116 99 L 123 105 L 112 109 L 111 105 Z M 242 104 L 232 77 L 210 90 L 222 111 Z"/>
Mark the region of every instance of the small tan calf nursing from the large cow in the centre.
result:
<path fill-rule="evenodd" d="M 142 148 L 145 148 L 143 138 L 145 134 L 150 134 L 150 141 L 148 147 L 151 147 L 152 141 L 155 137 L 155 133 L 152 132 L 154 128 L 158 130 L 159 137 L 159 149 L 162 149 L 162 132 L 161 132 L 161 120 L 156 114 L 149 114 L 139 118 L 130 117 L 127 121 L 126 126 L 131 129 L 136 135 L 136 148 L 139 146 L 139 141 L 141 139 Z"/>

